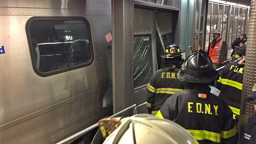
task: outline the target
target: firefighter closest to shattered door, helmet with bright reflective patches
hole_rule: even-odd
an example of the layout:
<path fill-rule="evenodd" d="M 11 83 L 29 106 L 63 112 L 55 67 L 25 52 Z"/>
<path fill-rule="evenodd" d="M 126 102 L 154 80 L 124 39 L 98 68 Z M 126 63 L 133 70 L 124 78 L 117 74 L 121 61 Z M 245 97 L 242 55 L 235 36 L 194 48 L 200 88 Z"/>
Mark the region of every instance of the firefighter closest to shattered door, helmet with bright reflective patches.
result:
<path fill-rule="evenodd" d="M 168 97 L 184 89 L 184 83 L 178 77 L 183 60 L 180 48 L 176 44 L 169 45 L 161 57 L 164 58 L 164 66 L 151 76 L 147 87 L 146 106 L 148 113 L 153 115 L 156 115 Z"/>

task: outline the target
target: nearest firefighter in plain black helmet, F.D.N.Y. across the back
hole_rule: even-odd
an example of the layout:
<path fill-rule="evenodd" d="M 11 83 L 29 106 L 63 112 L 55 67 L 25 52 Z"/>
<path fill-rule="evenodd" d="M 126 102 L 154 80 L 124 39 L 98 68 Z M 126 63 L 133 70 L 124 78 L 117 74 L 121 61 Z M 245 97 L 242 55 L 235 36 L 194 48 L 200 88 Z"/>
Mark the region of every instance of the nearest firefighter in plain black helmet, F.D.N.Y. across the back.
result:
<path fill-rule="evenodd" d="M 200 144 L 236 144 L 232 111 L 207 84 L 218 78 L 208 54 L 200 49 L 190 54 L 179 76 L 185 89 L 169 97 L 156 116 L 180 124 Z"/>

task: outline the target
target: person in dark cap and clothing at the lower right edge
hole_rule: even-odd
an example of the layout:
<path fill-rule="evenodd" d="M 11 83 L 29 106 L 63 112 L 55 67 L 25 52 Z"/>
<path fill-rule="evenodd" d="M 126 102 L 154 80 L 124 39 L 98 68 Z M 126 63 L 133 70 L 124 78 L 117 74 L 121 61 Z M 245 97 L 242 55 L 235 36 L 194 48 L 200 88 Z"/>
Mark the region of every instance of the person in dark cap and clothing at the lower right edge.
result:
<path fill-rule="evenodd" d="M 252 93 L 246 99 L 248 102 L 253 102 L 253 107 L 256 112 L 256 84 L 254 84 Z M 256 144 L 256 114 L 252 115 L 247 121 L 243 137 L 240 139 L 240 144 Z"/>

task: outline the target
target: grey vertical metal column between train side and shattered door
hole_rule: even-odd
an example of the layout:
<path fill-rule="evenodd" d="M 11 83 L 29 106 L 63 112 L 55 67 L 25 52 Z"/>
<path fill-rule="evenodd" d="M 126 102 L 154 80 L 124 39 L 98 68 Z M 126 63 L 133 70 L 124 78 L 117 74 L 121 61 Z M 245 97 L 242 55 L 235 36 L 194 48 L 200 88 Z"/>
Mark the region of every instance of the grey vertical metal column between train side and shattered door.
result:
<path fill-rule="evenodd" d="M 113 112 L 131 105 L 133 94 L 133 0 L 112 2 Z M 130 114 L 130 113 L 129 113 Z M 126 116 L 128 113 L 126 113 Z"/>

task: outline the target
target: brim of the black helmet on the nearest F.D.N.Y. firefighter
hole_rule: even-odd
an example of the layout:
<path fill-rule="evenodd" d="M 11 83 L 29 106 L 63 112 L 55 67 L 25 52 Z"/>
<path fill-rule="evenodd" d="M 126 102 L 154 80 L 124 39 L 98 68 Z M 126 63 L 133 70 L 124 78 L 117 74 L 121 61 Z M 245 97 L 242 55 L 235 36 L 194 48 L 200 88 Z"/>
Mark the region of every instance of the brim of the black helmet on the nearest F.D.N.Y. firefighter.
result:
<path fill-rule="evenodd" d="M 190 76 L 185 74 L 181 69 L 179 71 L 179 78 L 181 80 L 192 83 L 209 83 L 213 80 L 216 80 L 218 77 L 219 75 L 217 73 L 210 76 Z"/>

